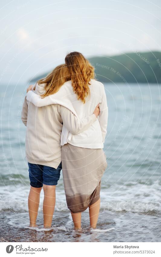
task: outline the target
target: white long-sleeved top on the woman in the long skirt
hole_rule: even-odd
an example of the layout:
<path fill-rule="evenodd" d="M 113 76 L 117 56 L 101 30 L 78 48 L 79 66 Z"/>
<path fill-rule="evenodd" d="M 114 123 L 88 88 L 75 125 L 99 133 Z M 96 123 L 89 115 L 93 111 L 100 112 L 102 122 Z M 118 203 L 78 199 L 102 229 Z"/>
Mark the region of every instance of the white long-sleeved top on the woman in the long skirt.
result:
<path fill-rule="evenodd" d="M 53 95 L 41 98 L 33 91 L 27 93 L 27 100 L 37 107 L 49 106 L 50 104 L 60 104 L 76 115 L 79 119 L 90 116 L 95 106 L 100 103 L 100 114 L 97 120 L 85 131 L 72 134 L 69 128 L 63 124 L 61 145 L 70 143 L 77 147 L 98 149 L 103 148 L 105 141 L 107 121 L 108 121 L 108 107 L 104 85 L 96 80 L 90 81 L 90 96 L 86 99 L 85 104 L 77 99 L 77 95 L 73 92 L 72 81 L 67 81 L 63 84 L 60 90 Z M 40 86 L 37 85 L 37 88 Z"/>

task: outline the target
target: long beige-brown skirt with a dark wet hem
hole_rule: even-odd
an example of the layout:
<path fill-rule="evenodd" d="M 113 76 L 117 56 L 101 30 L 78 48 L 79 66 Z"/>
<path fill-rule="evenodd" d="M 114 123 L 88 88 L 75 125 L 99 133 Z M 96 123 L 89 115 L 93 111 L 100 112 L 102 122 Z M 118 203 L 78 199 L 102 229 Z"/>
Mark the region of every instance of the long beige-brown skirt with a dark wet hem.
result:
<path fill-rule="evenodd" d="M 103 149 L 62 146 L 66 202 L 72 213 L 85 211 L 100 198 L 101 177 L 107 167 Z"/>

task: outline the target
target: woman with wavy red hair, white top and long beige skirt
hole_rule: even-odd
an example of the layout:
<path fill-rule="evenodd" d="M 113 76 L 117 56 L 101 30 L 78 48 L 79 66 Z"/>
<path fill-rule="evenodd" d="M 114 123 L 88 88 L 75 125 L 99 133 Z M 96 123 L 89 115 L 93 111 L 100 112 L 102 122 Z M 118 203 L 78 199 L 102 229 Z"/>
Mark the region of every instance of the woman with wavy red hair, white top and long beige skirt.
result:
<path fill-rule="evenodd" d="M 74 135 L 63 125 L 61 136 L 63 181 L 74 228 L 81 229 L 81 213 L 87 208 L 90 226 L 95 228 L 100 209 L 101 177 L 107 167 L 103 152 L 108 120 L 106 94 L 104 85 L 94 79 L 94 67 L 81 53 L 67 54 L 65 64 L 70 81 L 44 98 L 29 91 L 27 100 L 37 107 L 53 103 L 63 105 L 79 119 L 91 115 L 99 103 L 99 117 L 87 130 Z"/>

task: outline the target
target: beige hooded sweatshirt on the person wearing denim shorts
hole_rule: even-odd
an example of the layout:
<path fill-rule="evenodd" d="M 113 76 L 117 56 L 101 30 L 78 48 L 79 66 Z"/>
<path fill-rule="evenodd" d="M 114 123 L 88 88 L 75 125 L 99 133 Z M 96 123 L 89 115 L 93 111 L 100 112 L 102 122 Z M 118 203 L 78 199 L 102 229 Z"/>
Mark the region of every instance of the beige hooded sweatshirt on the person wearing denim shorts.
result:
<path fill-rule="evenodd" d="M 43 94 L 43 86 L 44 84 L 42 87 L 36 87 L 37 95 Z M 64 106 L 51 104 L 38 108 L 25 97 L 21 119 L 27 126 L 25 141 L 27 161 L 56 169 L 61 162 L 62 124 L 65 124 L 72 134 L 77 134 L 88 129 L 95 122 L 96 116 L 92 114 L 80 120 Z"/>

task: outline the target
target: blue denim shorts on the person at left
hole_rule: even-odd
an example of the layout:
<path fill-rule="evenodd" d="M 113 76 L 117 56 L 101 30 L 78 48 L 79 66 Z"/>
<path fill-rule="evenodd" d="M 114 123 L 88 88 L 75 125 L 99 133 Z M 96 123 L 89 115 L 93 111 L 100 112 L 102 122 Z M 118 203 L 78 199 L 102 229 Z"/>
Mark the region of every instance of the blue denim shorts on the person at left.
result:
<path fill-rule="evenodd" d="M 28 163 L 28 167 L 31 186 L 42 187 L 43 184 L 48 186 L 55 186 L 60 179 L 62 163 L 59 164 L 57 169 L 33 163 Z"/>

